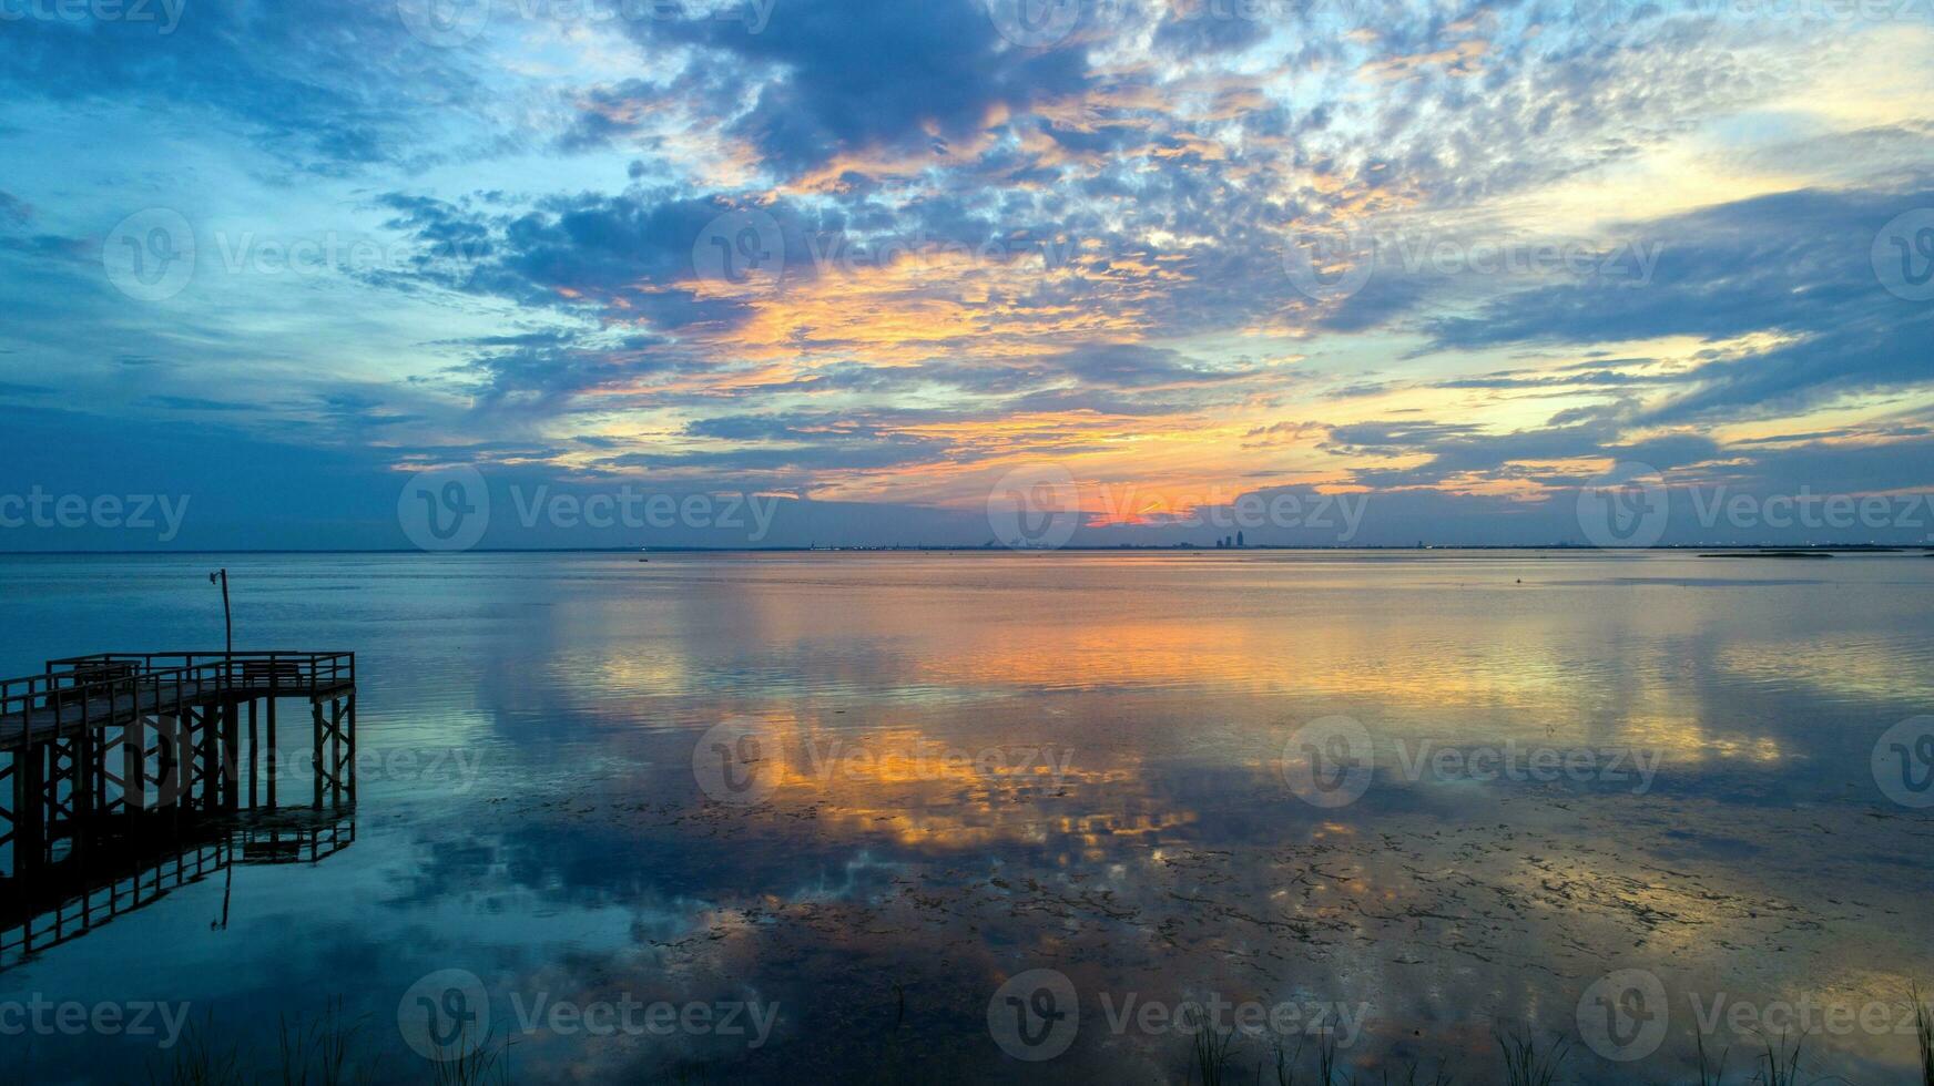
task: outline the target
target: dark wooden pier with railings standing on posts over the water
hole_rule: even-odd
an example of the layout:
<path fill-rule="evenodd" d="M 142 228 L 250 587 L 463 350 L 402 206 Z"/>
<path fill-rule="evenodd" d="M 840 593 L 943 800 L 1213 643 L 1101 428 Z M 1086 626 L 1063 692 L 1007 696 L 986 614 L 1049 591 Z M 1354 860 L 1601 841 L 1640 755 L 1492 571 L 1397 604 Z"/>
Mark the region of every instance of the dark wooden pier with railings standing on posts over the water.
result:
<path fill-rule="evenodd" d="M 308 742 L 280 746 L 284 701 Z M 300 727 L 300 725 L 298 725 Z M 93 850 L 278 810 L 304 746 L 308 806 L 356 802 L 356 653 L 99 653 L 0 680 L 0 895 Z"/>

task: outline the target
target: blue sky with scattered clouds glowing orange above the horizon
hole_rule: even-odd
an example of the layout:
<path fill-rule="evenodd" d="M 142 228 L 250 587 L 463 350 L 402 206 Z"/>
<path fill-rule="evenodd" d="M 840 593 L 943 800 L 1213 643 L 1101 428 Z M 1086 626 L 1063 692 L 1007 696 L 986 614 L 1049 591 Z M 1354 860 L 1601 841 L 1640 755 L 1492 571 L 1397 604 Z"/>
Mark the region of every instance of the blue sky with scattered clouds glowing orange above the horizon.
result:
<path fill-rule="evenodd" d="M 0 0 L 0 493 L 190 499 L 166 541 L 15 502 L 0 549 L 408 545 L 470 468 L 497 545 L 716 528 L 526 516 L 634 491 L 979 545 L 1042 487 L 1095 543 L 1934 489 L 1934 0 Z M 1934 514 L 1849 531 L 1669 539 Z"/>

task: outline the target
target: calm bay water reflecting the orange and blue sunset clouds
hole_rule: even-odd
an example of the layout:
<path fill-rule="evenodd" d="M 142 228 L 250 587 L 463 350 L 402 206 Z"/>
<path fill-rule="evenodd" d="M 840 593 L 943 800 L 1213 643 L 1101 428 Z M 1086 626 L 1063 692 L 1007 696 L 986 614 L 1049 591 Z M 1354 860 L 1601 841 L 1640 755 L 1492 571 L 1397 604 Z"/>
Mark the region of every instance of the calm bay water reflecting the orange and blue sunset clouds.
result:
<path fill-rule="evenodd" d="M 278 1016 L 340 999 L 373 1078 L 422 1082 L 398 1007 L 462 970 L 520 1082 L 1180 1082 L 1189 1036 L 1124 1007 L 1222 999 L 1288 1049 L 1352 1022 L 1371 1074 L 1493 1080 L 1520 1028 L 1630 1082 L 1683 1080 L 1715 1001 L 1934 987 L 1934 810 L 1876 775 L 1934 713 L 1919 555 L 17 557 L 0 671 L 219 647 L 219 564 L 238 647 L 358 653 L 354 844 L 8 960 L 0 1007 L 188 1003 L 267 1069 Z M 1311 769 L 1348 727 L 1375 771 Z M 998 1043 L 1029 970 L 1077 1005 L 1033 1065 Z M 1667 991 L 1642 1072 L 1582 1038 L 1615 970 Z M 553 1015 L 627 1001 L 683 1018 Z M 0 1049 L 66 1082 L 180 1045 Z M 1913 1040 L 1806 1059 L 1907 1080 Z"/>

